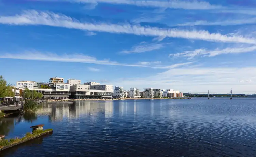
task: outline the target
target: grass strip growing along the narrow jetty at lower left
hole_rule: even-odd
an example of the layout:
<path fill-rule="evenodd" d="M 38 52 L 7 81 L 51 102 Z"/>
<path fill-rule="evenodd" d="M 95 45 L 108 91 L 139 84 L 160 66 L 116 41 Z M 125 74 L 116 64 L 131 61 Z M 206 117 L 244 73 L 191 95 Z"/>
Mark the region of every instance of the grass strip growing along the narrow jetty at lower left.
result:
<path fill-rule="evenodd" d="M 33 131 L 32 133 L 31 132 L 28 132 L 26 133 L 26 135 L 22 138 L 19 138 L 19 137 L 15 137 L 14 139 L 9 139 L 6 140 L 6 139 L 3 139 L 2 142 L 0 142 L 0 148 L 3 148 L 5 146 L 9 146 L 11 144 L 14 144 L 14 143 L 18 143 L 18 142 L 22 142 L 22 141 L 25 141 L 26 139 L 29 139 L 31 137 L 35 137 L 37 135 L 40 135 L 42 133 L 45 133 L 47 131 L 52 131 L 53 129 L 45 129 L 45 130 L 36 130 L 36 131 Z"/>

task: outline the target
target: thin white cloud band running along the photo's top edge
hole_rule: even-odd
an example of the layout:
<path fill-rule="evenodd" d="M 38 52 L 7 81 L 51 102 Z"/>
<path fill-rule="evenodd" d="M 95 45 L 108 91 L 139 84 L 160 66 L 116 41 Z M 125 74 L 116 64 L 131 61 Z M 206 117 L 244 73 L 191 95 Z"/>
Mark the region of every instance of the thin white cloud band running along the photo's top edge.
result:
<path fill-rule="evenodd" d="M 41 0 L 43 1 L 43 0 Z M 44 0 L 45 1 L 45 0 Z M 57 0 L 51 0 L 57 1 Z M 61 1 L 61 0 L 58 0 Z M 62 0 L 77 3 L 109 3 L 119 5 L 135 5 L 144 7 L 156 8 L 180 8 L 180 9 L 220 9 L 223 8 L 219 5 L 211 5 L 209 2 L 204 1 L 185 1 L 185 0 L 172 0 L 172 1 L 153 1 L 153 0 Z"/>

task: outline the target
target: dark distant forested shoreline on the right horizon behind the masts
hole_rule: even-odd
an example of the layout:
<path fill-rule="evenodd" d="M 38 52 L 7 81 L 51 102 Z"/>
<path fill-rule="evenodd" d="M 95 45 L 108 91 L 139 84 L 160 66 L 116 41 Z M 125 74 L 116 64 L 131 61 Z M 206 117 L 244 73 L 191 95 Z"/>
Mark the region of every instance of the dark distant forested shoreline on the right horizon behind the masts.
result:
<path fill-rule="evenodd" d="M 188 93 L 183 93 L 184 96 L 188 97 Z M 197 94 L 192 93 L 192 97 L 208 97 L 208 93 L 206 94 Z M 228 94 L 211 94 L 211 97 L 230 97 L 230 93 Z M 256 97 L 256 94 L 232 94 L 232 97 Z"/>

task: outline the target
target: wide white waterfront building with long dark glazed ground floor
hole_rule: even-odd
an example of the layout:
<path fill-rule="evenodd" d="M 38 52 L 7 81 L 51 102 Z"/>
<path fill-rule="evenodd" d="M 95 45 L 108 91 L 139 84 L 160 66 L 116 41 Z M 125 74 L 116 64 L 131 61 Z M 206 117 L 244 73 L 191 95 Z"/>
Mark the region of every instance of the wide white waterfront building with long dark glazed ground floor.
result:
<path fill-rule="evenodd" d="M 104 85 L 107 88 L 91 89 L 90 85 L 73 85 L 70 87 L 71 99 L 101 99 L 112 98 L 113 90 L 108 88 L 109 85 Z M 112 86 L 113 87 L 113 86 Z"/>

